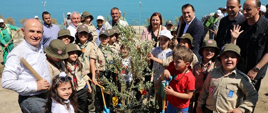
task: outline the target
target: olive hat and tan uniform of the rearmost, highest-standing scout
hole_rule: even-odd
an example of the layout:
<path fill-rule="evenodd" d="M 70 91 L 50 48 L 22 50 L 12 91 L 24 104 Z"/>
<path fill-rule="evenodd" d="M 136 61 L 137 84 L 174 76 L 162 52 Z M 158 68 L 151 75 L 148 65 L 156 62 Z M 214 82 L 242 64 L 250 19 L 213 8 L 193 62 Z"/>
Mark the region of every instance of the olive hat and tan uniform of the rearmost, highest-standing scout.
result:
<path fill-rule="evenodd" d="M 88 17 L 88 16 L 90 16 L 90 18 L 91 18 L 89 25 L 86 22 L 84 22 L 85 17 Z M 85 25 L 85 26 L 87 26 L 88 27 L 88 31 L 91 32 L 91 34 L 93 35 L 93 41 L 96 42 L 97 41 L 97 38 L 98 38 L 98 32 L 97 32 L 94 24 L 91 23 L 91 21 L 94 19 L 94 17 L 89 12 L 87 12 L 87 11 L 83 12 L 81 14 L 81 17 L 82 17 L 82 19 L 81 19 L 81 22 L 78 24 L 78 26 L 79 25 Z"/>

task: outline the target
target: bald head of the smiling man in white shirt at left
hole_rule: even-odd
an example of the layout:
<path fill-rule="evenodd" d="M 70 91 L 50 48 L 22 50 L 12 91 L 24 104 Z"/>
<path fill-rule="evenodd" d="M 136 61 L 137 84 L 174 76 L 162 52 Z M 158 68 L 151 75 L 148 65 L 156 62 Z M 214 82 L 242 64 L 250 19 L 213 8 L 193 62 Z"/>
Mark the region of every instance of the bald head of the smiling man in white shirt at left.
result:
<path fill-rule="evenodd" d="M 24 39 L 38 48 L 43 36 L 43 25 L 35 18 L 25 20 L 23 28 L 21 28 Z"/>

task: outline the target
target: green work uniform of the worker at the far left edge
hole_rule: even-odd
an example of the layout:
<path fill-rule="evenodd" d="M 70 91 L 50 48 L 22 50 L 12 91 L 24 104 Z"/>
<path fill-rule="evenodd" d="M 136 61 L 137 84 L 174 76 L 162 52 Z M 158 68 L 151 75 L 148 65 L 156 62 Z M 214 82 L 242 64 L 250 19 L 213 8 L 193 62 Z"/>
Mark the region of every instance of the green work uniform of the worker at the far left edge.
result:
<path fill-rule="evenodd" d="M 9 26 L 9 27 L 8 27 Z M 2 46 L 2 51 L 3 51 L 3 61 L 4 61 L 4 65 L 7 61 L 7 54 L 8 52 L 10 52 L 12 49 L 14 49 L 14 44 L 13 44 L 13 41 L 11 41 L 7 48 L 4 49 L 4 45 L 7 44 L 10 39 L 11 39 L 11 36 L 12 36 L 12 32 L 11 30 L 18 30 L 17 27 L 13 26 L 13 25 L 10 25 L 10 24 L 5 24 L 5 27 L 4 28 L 1 28 L 1 33 L 0 33 L 0 43 L 1 43 L 1 46 Z M 4 50 L 3 50 L 4 49 Z"/>

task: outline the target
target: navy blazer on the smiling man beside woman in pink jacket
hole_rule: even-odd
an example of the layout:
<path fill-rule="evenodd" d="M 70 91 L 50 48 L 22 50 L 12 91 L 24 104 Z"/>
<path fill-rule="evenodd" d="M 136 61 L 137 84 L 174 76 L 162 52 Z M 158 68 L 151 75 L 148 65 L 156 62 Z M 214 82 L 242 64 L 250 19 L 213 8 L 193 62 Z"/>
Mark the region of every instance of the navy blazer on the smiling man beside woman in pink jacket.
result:
<path fill-rule="evenodd" d="M 184 30 L 185 26 L 186 26 L 186 22 L 184 21 L 182 26 L 181 26 L 181 29 L 180 29 L 179 37 L 181 37 L 183 35 L 183 30 Z M 200 20 L 198 20 L 197 17 L 195 17 L 194 20 L 191 22 L 189 28 L 187 29 L 186 33 L 189 33 L 193 37 L 192 44 L 194 45 L 194 47 L 193 47 L 192 51 L 197 56 L 198 61 L 202 58 L 198 54 L 198 50 L 200 47 L 202 47 L 202 43 L 204 40 L 203 32 L 204 32 L 203 23 Z M 179 38 L 177 38 L 177 39 L 178 39 L 178 42 L 180 42 Z"/>

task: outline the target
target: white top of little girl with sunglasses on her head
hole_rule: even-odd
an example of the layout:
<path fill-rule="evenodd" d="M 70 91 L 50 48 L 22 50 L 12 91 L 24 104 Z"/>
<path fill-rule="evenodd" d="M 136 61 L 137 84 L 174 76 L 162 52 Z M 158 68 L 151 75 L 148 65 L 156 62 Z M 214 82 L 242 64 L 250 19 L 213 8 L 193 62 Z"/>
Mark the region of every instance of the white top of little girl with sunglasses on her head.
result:
<path fill-rule="evenodd" d="M 69 103 L 70 100 L 68 99 L 64 102 Z M 55 101 L 54 99 L 52 99 L 51 113 L 74 113 L 74 107 L 71 104 L 69 106 L 70 110 L 67 110 L 66 105 L 62 105 L 57 101 Z"/>

